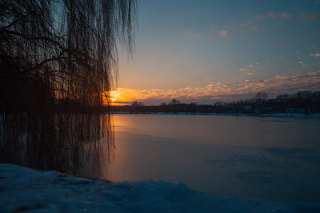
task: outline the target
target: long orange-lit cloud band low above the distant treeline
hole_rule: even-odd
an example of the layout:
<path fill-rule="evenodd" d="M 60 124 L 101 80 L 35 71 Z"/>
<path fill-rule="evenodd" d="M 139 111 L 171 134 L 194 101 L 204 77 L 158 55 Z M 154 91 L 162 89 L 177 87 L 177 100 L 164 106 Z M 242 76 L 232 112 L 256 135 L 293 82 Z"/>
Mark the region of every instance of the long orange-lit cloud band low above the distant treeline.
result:
<path fill-rule="evenodd" d="M 185 87 L 180 89 L 129 89 L 118 88 L 118 102 L 142 101 L 146 104 L 160 104 L 172 99 L 184 102 L 204 103 L 217 100 L 249 99 L 252 94 L 265 91 L 269 95 L 293 93 L 296 91 L 316 91 L 320 88 L 320 70 L 307 74 L 290 76 L 276 75 L 273 78 L 251 82 L 210 83 L 204 87 Z M 157 101 L 157 102 L 156 102 Z"/>

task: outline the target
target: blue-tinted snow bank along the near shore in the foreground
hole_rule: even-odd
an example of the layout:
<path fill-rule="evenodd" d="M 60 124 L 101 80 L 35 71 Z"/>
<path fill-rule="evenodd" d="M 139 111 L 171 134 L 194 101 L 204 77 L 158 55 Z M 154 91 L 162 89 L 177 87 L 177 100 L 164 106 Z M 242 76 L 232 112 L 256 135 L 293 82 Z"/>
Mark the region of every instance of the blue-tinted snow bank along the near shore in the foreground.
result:
<path fill-rule="evenodd" d="M 109 183 L 0 164 L 0 212 L 320 212 L 320 205 L 212 196 L 167 182 Z"/>

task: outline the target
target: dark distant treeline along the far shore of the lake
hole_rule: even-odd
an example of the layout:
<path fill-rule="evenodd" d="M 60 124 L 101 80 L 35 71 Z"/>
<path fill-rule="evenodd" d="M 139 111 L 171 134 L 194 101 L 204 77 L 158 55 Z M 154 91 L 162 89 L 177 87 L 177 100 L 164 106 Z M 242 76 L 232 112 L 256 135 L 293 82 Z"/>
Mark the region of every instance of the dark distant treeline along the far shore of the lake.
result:
<path fill-rule="evenodd" d="M 170 103 L 158 106 L 145 106 L 141 102 L 132 105 L 111 106 L 113 112 L 129 112 L 131 114 L 157 113 L 235 113 L 235 114 L 274 114 L 274 113 L 303 113 L 320 112 L 320 91 L 298 91 L 294 94 L 282 94 L 268 99 L 265 92 L 257 93 L 252 99 L 234 102 L 216 102 L 212 105 L 196 103 L 180 103 L 173 99 Z"/>

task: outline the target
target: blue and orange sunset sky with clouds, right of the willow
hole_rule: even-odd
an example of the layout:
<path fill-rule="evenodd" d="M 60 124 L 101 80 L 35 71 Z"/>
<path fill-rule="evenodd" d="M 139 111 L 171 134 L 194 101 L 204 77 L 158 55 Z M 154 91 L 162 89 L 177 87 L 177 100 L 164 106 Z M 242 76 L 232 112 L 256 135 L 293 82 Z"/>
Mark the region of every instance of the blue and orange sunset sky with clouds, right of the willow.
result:
<path fill-rule="evenodd" d="M 139 0 L 116 102 L 214 103 L 320 91 L 320 0 Z"/>

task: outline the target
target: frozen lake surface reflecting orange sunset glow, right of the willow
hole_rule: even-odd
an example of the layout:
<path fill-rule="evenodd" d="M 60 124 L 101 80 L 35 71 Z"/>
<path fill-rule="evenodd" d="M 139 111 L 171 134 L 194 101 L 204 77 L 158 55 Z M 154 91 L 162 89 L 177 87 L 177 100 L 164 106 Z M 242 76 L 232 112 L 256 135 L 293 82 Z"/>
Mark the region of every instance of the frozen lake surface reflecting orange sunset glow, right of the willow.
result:
<path fill-rule="evenodd" d="M 115 114 L 114 124 L 116 150 L 105 179 L 320 202 L 320 119 Z"/>

